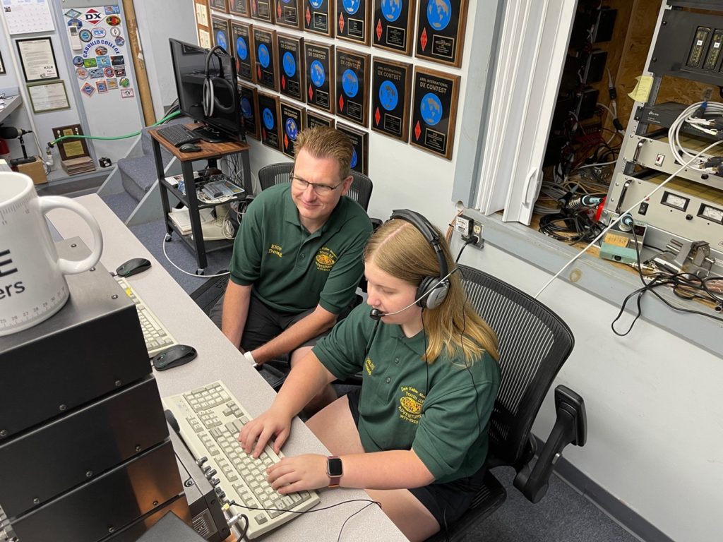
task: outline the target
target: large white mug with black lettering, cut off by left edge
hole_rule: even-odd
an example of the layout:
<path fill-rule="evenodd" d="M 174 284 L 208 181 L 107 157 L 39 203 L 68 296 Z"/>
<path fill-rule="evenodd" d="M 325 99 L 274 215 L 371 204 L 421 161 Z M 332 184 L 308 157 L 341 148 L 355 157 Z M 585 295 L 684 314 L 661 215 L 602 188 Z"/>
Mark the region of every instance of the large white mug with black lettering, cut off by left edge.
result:
<path fill-rule="evenodd" d="M 89 257 L 58 257 L 44 216 L 57 207 L 77 212 L 90 226 Z M 64 275 L 89 270 L 101 251 L 100 226 L 85 207 L 67 197 L 38 197 L 27 175 L 0 172 L 0 335 L 26 330 L 53 316 L 68 301 Z"/>

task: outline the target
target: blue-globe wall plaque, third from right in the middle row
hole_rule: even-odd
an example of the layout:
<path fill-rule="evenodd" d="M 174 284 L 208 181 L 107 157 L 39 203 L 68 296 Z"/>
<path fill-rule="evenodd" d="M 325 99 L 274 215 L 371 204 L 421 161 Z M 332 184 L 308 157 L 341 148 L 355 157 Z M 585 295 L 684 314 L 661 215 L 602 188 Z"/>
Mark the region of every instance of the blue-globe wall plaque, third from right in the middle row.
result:
<path fill-rule="evenodd" d="M 369 55 L 336 50 L 336 114 L 367 126 L 369 119 Z"/>

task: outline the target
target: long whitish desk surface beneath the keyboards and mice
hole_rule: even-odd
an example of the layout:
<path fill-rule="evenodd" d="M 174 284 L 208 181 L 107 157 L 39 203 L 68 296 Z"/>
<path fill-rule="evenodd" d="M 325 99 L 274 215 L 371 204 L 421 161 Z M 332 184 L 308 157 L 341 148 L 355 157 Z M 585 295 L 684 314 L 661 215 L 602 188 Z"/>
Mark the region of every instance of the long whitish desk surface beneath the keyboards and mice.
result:
<path fill-rule="evenodd" d="M 96 194 L 75 199 L 95 216 L 103 231 L 103 255 L 100 262 L 107 270 L 115 270 L 134 257 L 147 258 L 150 270 L 129 277 L 128 283 L 154 314 L 161 319 L 179 343 L 192 345 L 198 357 L 189 364 L 168 371 L 154 371 L 161 396 L 192 390 L 221 379 L 236 398 L 258 416 L 273 402 L 275 393 L 266 381 L 250 366 L 238 350 L 226 340 L 220 330 L 168 275 L 129 229 Z M 48 213 L 48 219 L 63 238 L 80 237 L 90 246 L 90 229 L 78 215 L 64 209 Z M 301 453 L 327 454 L 328 451 L 298 418 L 294 419 L 291 437 L 282 451 L 286 455 Z M 349 499 L 369 499 L 361 489 L 324 489 L 317 507 Z M 337 540 L 341 525 L 347 517 L 365 504 L 354 502 L 330 510 L 305 514 L 273 531 L 266 541 L 330 541 Z M 406 538 L 376 506 L 371 506 L 351 518 L 344 527 L 342 541 L 405 541 Z"/>

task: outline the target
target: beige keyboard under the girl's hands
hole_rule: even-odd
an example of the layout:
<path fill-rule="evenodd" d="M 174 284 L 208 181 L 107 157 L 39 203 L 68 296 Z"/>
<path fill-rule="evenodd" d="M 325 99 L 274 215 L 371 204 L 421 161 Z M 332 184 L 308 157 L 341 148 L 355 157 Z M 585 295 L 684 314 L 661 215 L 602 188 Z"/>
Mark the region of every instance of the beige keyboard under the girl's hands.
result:
<path fill-rule="evenodd" d="M 266 469 L 283 457 L 266 446 L 258 459 L 244 452 L 239 444 L 239 431 L 253 418 L 231 395 L 221 381 L 196 390 L 163 397 L 163 406 L 171 410 L 179 425 L 181 439 L 197 460 L 208 458 L 223 493 L 231 504 L 231 512 L 249 518 L 246 536 L 249 540 L 278 528 L 318 502 L 316 491 L 299 491 L 281 495 L 267 481 Z M 265 508 L 259 510 L 254 508 Z"/>

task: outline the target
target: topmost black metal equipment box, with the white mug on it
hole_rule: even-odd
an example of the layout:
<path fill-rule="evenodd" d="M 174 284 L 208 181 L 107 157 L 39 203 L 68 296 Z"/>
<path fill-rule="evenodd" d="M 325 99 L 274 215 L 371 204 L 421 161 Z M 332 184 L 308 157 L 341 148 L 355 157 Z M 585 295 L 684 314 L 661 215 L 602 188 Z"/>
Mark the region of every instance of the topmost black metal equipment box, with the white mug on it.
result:
<path fill-rule="evenodd" d="M 58 254 L 73 243 L 82 241 L 57 243 Z M 66 280 L 70 298 L 60 311 L 0 337 L 0 442 L 151 371 L 136 308 L 108 271 L 98 264 Z"/>

